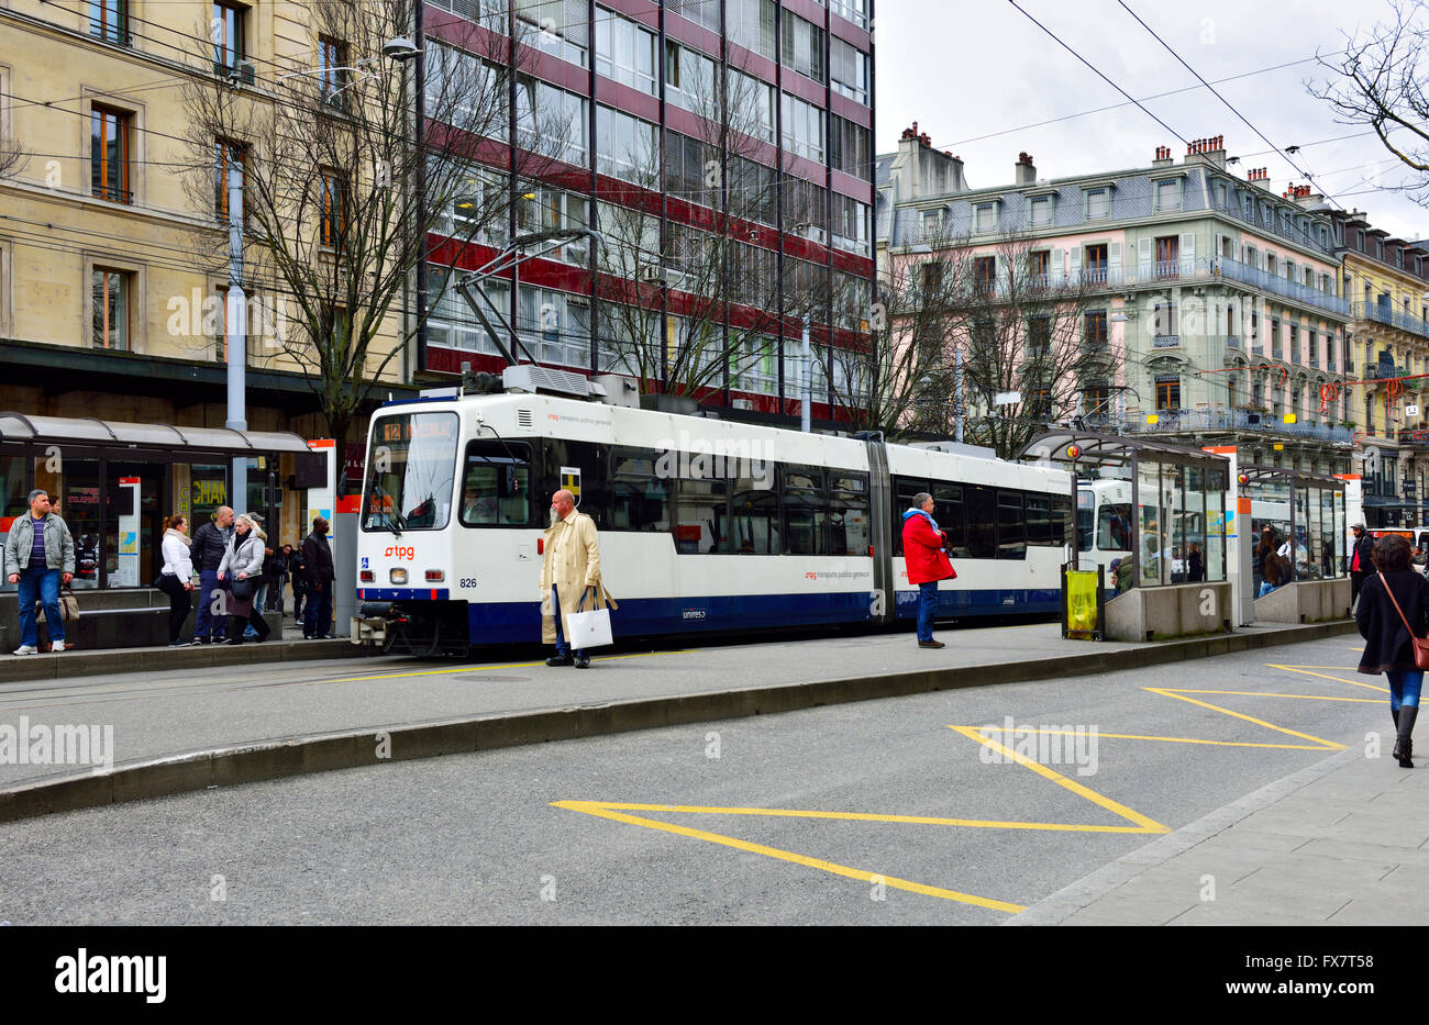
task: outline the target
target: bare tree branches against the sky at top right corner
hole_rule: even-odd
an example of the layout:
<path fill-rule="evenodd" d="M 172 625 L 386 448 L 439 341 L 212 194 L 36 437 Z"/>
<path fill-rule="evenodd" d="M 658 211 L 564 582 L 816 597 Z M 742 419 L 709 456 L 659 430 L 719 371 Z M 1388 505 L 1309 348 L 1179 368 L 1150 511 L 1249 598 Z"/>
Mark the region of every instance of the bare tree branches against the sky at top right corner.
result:
<path fill-rule="evenodd" d="M 1310 96 L 1325 100 L 1342 124 L 1369 126 L 1380 144 L 1413 174 L 1395 191 L 1429 206 L 1429 96 L 1423 54 L 1429 41 L 1423 0 L 1393 0 L 1392 20 L 1366 33 L 1345 33 L 1346 46 L 1319 57 L 1329 71 L 1306 81 Z M 1396 138 L 1390 138 L 1396 134 Z M 1375 177 L 1375 176 L 1370 176 Z"/>

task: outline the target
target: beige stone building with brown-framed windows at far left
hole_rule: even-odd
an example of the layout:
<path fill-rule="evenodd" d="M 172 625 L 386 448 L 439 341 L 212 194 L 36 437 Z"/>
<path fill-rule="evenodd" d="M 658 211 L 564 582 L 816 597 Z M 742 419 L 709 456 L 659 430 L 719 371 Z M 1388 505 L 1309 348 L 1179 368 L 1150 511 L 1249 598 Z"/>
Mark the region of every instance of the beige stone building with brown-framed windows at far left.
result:
<path fill-rule="evenodd" d="M 326 430 L 273 344 L 283 296 L 264 281 L 246 281 L 250 435 L 223 430 L 224 148 L 196 161 L 183 94 L 227 80 L 274 103 L 282 76 L 332 63 L 309 14 L 297 0 L 0 3 L 0 160 L 20 150 L 0 163 L 0 411 L 14 414 L 0 415 L 0 530 L 29 488 L 51 490 L 93 538 L 77 585 L 153 580 L 170 512 L 201 522 L 231 503 L 284 540 L 306 528 L 284 487 L 293 435 Z M 400 361 L 389 378 L 400 390 Z M 229 494 L 234 457 L 247 495 Z M 131 540 L 120 481 L 140 483 Z"/>

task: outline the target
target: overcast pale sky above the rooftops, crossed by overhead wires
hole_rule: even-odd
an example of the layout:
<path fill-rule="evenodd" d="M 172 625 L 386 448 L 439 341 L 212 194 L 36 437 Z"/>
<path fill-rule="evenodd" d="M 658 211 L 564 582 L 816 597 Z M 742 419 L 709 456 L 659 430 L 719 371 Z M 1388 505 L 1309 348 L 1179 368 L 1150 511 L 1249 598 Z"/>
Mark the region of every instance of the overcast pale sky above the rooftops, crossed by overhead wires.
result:
<path fill-rule="evenodd" d="M 1345 31 L 1368 30 L 1388 16 L 1386 0 L 1126 0 L 1273 143 L 1275 153 L 1205 87 L 1146 100 L 1199 83 L 1117 0 L 1017 3 L 1185 138 L 1225 136 L 1228 153 L 1243 157 L 1233 168 L 1242 177 L 1248 167 L 1266 167 L 1276 191 L 1292 180 L 1309 184 L 1293 160 L 1346 208 L 1365 210 L 1376 227 L 1402 238 L 1429 237 L 1429 210 L 1376 188 L 1403 180 L 1378 138 L 1322 141 L 1366 131 L 1336 123 L 1306 93 L 1303 83 L 1323 80 L 1326 69 L 1309 60 L 1216 81 L 1342 50 Z M 899 133 L 916 120 L 937 148 L 963 158 L 975 188 L 1010 183 L 1022 150 L 1033 156 L 1042 178 L 1145 167 L 1157 146 L 1172 147 L 1177 161 L 1186 153 L 1176 136 L 1007 0 L 880 0 L 875 40 L 877 151 L 895 150 Z M 1126 106 L 1022 127 L 1116 103 Z M 1007 134 L 979 138 L 992 133 Z M 1286 157 L 1279 150 L 1288 146 L 1303 148 Z"/>

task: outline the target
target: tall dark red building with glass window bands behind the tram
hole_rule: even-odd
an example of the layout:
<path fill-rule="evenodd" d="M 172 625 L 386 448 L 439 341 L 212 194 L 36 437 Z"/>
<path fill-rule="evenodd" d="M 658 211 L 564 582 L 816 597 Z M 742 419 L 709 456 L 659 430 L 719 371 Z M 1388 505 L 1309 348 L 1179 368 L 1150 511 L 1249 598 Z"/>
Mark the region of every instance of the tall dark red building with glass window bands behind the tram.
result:
<path fill-rule="evenodd" d="M 522 193 L 503 230 L 454 257 L 450 233 L 430 234 L 420 374 L 503 365 L 450 267 L 482 267 L 529 231 L 593 227 L 603 247 L 576 240 L 483 284 L 519 335 L 509 345 L 676 391 L 672 364 L 699 335 L 700 358 L 722 364 L 696 367 L 703 405 L 787 423 L 807 321 L 813 415 L 837 420 L 849 381 L 835 355 L 866 337 L 875 277 L 872 0 L 429 0 L 422 17 L 429 69 L 490 59 L 492 33 L 520 40 L 503 146 L 477 153 L 473 187 Z M 542 111 L 564 114 L 554 151 Z M 544 166 L 517 173 L 543 146 Z M 460 204 L 447 223 L 460 228 Z"/>

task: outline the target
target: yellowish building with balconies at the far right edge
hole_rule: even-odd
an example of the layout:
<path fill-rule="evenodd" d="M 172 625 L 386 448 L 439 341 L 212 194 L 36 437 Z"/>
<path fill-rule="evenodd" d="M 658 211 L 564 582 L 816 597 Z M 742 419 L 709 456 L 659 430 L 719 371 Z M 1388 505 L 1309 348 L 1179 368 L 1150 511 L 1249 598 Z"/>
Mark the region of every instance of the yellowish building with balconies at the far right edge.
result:
<path fill-rule="evenodd" d="M 1420 525 L 1429 477 L 1429 248 L 1395 238 L 1359 210 L 1335 211 L 1350 300 L 1349 351 L 1359 367 L 1358 421 L 1370 527 Z"/>

